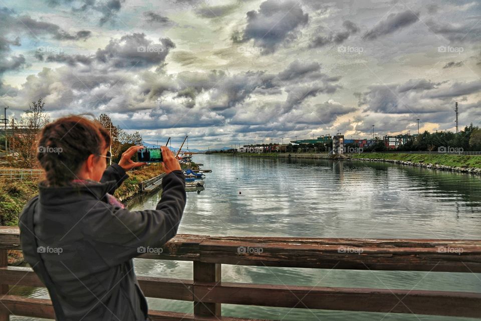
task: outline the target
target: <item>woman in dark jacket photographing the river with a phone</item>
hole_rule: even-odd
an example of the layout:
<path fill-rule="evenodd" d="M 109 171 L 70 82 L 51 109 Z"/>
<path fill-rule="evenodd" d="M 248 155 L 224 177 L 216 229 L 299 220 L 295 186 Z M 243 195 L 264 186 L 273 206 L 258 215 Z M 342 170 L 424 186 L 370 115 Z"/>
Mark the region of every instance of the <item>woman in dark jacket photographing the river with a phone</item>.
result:
<path fill-rule="evenodd" d="M 46 180 L 20 217 L 25 260 L 47 286 L 61 321 L 144 321 L 147 301 L 132 258 L 162 247 L 177 233 L 185 207 L 180 165 L 162 147 L 162 197 L 155 210 L 130 212 L 113 197 L 127 171 L 145 163 L 110 162 L 110 136 L 80 116 L 45 126 L 39 152 Z"/>

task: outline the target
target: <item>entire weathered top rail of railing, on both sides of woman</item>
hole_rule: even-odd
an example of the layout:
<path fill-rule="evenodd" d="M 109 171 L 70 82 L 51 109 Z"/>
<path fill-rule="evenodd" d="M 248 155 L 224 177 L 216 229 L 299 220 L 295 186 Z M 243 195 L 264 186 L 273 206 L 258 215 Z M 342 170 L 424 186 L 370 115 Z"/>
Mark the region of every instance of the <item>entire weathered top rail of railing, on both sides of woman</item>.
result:
<path fill-rule="evenodd" d="M 0 228 L 0 248 L 19 249 L 18 228 Z M 239 252 L 239 248 L 248 249 Z M 250 252 L 250 249 L 259 249 Z M 210 237 L 179 234 L 140 258 L 206 263 L 481 273 L 481 240 Z"/>

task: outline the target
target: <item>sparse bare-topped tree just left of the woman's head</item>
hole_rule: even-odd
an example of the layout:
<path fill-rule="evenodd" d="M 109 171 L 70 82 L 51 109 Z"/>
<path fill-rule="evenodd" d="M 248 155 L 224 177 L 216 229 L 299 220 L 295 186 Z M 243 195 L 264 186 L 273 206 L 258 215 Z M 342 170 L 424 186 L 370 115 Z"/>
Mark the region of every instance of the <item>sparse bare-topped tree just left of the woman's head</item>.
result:
<path fill-rule="evenodd" d="M 38 167 L 37 142 L 41 129 L 50 121 L 45 113 L 45 102 L 42 97 L 38 101 L 32 101 L 29 109 L 18 123 L 20 131 L 14 136 L 16 152 L 19 156 L 19 165 L 26 168 Z M 45 146 L 44 146 L 45 147 Z"/>

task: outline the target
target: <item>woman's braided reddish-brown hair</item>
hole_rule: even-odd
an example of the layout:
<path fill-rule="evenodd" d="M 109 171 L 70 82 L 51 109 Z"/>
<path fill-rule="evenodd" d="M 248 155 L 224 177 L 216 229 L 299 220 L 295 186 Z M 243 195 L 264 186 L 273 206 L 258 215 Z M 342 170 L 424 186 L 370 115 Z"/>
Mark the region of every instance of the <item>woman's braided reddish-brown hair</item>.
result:
<path fill-rule="evenodd" d="M 91 154 L 99 155 L 110 145 L 109 132 L 100 122 L 68 116 L 47 124 L 42 130 L 37 159 L 49 186 L 66 186 Z"/>

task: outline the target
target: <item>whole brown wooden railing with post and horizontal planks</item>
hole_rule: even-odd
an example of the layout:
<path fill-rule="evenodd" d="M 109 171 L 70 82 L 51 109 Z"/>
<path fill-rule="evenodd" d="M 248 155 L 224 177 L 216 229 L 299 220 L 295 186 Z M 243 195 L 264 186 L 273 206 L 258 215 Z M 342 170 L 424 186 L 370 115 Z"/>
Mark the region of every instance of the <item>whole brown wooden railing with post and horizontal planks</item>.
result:
<path fill-rule="evenodd" d="M 54 318 L 50 300 L 8 292 L 9 285 L 43 286 L 32 269 L 7 266 L 7 250 L 19 244 L 18 228 L 0 227 L 0 321 L 9 314 Z M 138 277 L 144 294 L 192 301 L 194 313 L 150 310 L 153 320 L 246 320 L 221 316 L 221 303 L 481 317 L 477 292 L 221 282 L 221 264 L 481 273 L 480 240 L 177 235 L 161 252 L 140 257 L 193 261 L 193 279 Z"/>

